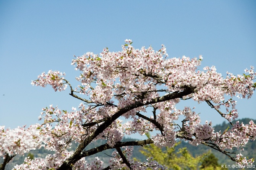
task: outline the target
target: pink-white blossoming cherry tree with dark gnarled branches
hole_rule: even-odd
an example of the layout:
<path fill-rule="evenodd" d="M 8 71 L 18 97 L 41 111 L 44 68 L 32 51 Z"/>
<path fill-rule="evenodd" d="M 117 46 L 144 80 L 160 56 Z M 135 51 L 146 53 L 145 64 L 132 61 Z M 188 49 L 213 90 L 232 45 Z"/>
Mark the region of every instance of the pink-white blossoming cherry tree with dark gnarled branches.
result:
<path fill-rule="evenodd" d="M 99 55 L 87 52 L 75 57 L 71 65 L 81 71 L 76 77 L 75 88 L 65 79 L 65 73 L 49 71 L 38 76 L 32 85 L 51 85 L 55 91 L 70 90 L 70 95 L 81 103 L 70 112 L 50 105 L 42 109 L 36 124 L 25 129 L 18 127 L 5 130 L 0 126 L 0 156 L 4 157 L 1 168 L 16 155 L 44 147 L 54 154 L 16 165 L 14 170 L 108 170 L 151 167 L 166 169 L 152 158 L 138 162 L 131 158 L 133 146 L 156 144 L 173 147 L 178 140 L 192 145 L 204 144 L 227 155 L 240 165 L 252 164 L 241 154 L 227 151 L 233 147 L 243 148 L 256 138 L 256 124 L 250 121 L 231 123 L 238 118 L 236 101 L 232 98 L 250 98 L 256 88 L 256 73 L 253 66 L 245 74 L 225 77 L 216 68 L 204 67 L 198 70 L 203 57 L 169 58 L 165 46 L 158 51 L 152 47 L 135 49 L 129 39 L 122 45 L 122 51 L 110 52 L 104 49 Z M 84 96 L 84 97 L 83 97 Z M 202 123 L 193 108 L 178 109 L 183 100 L 206 102 L 216 115 L 230 122 L 232 128 L 214 131 L 211 121 Z M 179 123 L 178 119 L 183 117 Z M 125 135 L 156 131 L 156 135 L 140 141 L 123 142 Z M 105 139 L 103 145 L 87 149 L 88 144 Z M 71 144 L 78 143 L 74 151 Z M 86 157 L 98 152 L 115 149 L 109 166 L 104 167 L 98 157 L 87 162 Z"/>

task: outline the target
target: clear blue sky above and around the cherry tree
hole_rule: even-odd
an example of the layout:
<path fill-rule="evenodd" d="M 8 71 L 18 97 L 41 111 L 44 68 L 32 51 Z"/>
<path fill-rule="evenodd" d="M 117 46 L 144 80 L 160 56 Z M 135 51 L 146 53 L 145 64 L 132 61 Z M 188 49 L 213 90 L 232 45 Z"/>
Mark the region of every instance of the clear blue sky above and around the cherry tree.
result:
<path fill-rule="evenodd" d="M 125 39 L 133 46 L 167 47 L 170 57 L 198 57 L 226 76 L 256 67 L 256 1 L 129 0 L 18 1 L 0 0 L 0 125 L 38 123 L 42 107 L 78 107 L 69 91 L 32 86 L 43 71 L 59 70 L 77 86 L 73 55 L 104 47 L 119 51 Z M 4 94 L 4 96 L 3 96 Z M 224 121 L 203 104 L 202 120 Z M 256 95 L 238 100 L 239 118 L 256 118 Z M 182 108 L 182 104 L 179 105 Z"/>

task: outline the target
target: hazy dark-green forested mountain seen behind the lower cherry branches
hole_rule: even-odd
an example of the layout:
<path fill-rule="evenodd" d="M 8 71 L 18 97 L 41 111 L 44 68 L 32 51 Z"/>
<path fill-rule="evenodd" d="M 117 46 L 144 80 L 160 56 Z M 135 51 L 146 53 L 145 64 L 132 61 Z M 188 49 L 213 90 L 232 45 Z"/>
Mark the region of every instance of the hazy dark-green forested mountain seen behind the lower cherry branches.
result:
<path fill-rule="evenodd" d="M 249 118 L 243 118 L 240 119 L 240 123 L 243 122 L 245 124 L 248 124 L 249 121 L 251 119 Z M 236 120 L 237 121 L 237 120 Z M 254 122 L 256 122 L 256 120 L 253 120 Z M 232 122 L 235 123 L 235 122 Z M 224 131 L 227 129 L 227 127 L 230 124 L 228 122 L 223 122 L 220 125 L 216 125 L 214 126 L 214 130 L 215 131 Z M 138 139 L 132 139 L 132 138 L 124 138 L 123 141 L 136 141 Z M 104 144 L 105 141 L 104 140 L 98 140 L 92 144 L 90 144 L 86 149 L 91 149 L 97 146 L 100 146 L 102 144 Z M 77 144 L 73 144 L 72 149 L 75 149 L 77 147 Z M 233 162 L 232 160 L 230 160 L 226 155 L 215 151 L 214 149 L 211 149 L 210 147 L 204 146 L 204 145 L 199 145 L 199 146 L 192 146 L 190 144 L 188 144 L 188 142 L 184 142 L 182 141 L 180 145 L 177 146 L 177 150 L 179 148 L 183 148 L 186 147 L 188 149 L 188 151 L 193 155 L 201 155 L 203 153 L 206 153 L 208 151 L 211 151 L 218 159 L 219 159 L 219 164 L 223 164 L 223 165 L 233 165 L 235 164 L 235 162 Z M 134 146 L 134 150 L 133 150 L 133 157 L 135 157 L 136 159 L 140 160 L 140 161 L 145 161 L 146 157 L 141 154 L 141 152 L 139 152 L 142 149 L 141 146 Z M 246 157 L 249 158 L 256 158 L 256 141 L 249 141 L 248 144 L 246 144 L 244 151 L 240 151 L 240 150 L 233 150 L 236 151 L 237 153 L 243 154 Z M 252 152 L 253 151 L 253 152 Z M 107 150 L 107 151 L 103 151 L 100 153 L 97 153 L 95 155 L 91 155 L 90 157 L 87 157 L 87 162 L 91 162 L 92 160 L 94 160 L 95 157 L 99 157 L 101 160 L 103 160 L 105 162 L 105 166 L 108 165 L 109 159 L 111 158 L 110 156 L 112 155 L 113 149 Z M 47 151 L 43 148 L 35 150 L 35 151 L 31 151 L 31 154 L 34 155 L 34 157 L 45 157 L 47 154 L 50 154 L 52 152 Z M 22 155 L 16 155 L 13 160 L 6 166 L 5 170 L 11 170 L 16 164 L 22 164 L 24 161 L 24 158 L 27 156 L 28 154 L 25 154 L 24 156 Z M 2 163 L 3 160 L 0 159 L 0 163 Z M 231 168 L 230 168 L 231 169 Z M 248 170 L 253 170 L 255 168 L 246 168 Z M 232 170 L 238 170 L 238 168 L 232 168 Z"/>

